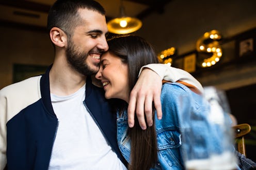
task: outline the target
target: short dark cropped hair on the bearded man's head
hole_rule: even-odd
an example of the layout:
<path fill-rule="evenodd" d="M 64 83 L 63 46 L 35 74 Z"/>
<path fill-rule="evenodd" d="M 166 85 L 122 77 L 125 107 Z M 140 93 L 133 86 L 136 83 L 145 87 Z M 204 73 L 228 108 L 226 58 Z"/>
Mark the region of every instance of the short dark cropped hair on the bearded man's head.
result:
<path fill-rule="evenodd" d="M 105 15 L 104 8 L 93 0 L 57 0 L 49 11 L 47 30 L 58 27 L 71 36 L 75 27 L 82 23 L 78 9 L 97 11 Z"/>

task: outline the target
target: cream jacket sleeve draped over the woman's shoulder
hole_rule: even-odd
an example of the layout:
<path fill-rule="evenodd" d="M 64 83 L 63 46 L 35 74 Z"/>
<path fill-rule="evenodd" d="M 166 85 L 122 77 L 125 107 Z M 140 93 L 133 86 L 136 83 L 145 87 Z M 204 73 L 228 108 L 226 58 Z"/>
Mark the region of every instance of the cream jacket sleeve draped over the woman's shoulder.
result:
<path fill-rule="evenodd" d="M 162 78 L 162 80 L 170 82 L 182 81 L 195 86 L 201 93 L 203 93 L 202 85 L 187 71 L 170 67 L 166 64 L 148 64 L 141 67 L 139 75 L 143 68 L 150 68 L 151 70 L 155 71 Z"/>

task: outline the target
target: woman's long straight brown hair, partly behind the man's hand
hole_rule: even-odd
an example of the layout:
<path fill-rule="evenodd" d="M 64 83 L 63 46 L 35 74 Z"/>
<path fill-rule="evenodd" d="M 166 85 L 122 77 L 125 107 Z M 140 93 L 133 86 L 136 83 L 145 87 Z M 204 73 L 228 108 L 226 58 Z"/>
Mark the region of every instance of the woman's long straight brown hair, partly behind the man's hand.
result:
<path fill-rule="evenodd" d="M 117 55 L 128 65 L 130 91 L 136 84 L 139 70 L 142 66 L 158 63 L 157 56 L 149 43 L 139 36 L 121 36 L 108 41 L 109 52 Z M 115 104 L 119 111 L 123 111 L 126 104 L 122 100 Z M 148 170 L 157 163 L 157 141 L 154 124 L 154 110 L 152 112 L 153 126 L 142 130 L 135 116 L 133 128 L 129 128 L 131 138 L 130 170 Z"/>

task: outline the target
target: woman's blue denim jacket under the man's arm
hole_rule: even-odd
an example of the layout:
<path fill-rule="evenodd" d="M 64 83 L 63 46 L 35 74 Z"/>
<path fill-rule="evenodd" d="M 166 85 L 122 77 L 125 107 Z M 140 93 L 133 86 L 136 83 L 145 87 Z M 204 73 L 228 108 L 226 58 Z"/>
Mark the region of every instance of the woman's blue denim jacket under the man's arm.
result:
<path fill-rule="evenodd" d="M 192 92 L 188 87 L 180 83 L 165 83 L 162 87 L 161 103 L 163 117 L 158 120 L 155 116 L 156 138 L 158 147 L 158 163 L 154 169 L 184 169 L 182 159 L 182 149 L 191 149 L 197 153 L 198 157 L 207 157 L 205 144 L 216 146 L 216 140 L 209 140 L 205 126 L 209 126 L 206 121 L 209 105 L 204 103 L 202 96 Z M 194 130 L 198 139 L 208 141 L 201 142 L 196 146 L 181 147 L 181 135 L 186 130 L 187 115 L 196 117 L 197 123 Z M 155 114 L 156 115 L 156 114 Z M 127 135 L 127 112 L 122 115 L 117 113 L 117 140 L 124 158 L 129 161 L 130 157 L 130 137 Z M 203 138 L 202 138 L 203 137 Z M 199 152 L 200 151 L 200 152 Z"/>

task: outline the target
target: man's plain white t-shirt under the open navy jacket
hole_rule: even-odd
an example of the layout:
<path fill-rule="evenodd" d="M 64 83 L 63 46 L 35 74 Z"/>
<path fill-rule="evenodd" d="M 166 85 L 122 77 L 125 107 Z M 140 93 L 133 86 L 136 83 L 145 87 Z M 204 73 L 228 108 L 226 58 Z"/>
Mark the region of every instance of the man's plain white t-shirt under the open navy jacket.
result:
<path fill-rule="evenodd" d="M 51 94 L 59 124 L 49 169 L 126 169 L 85 108 L 84 99 L 85 85 L 70 96 Z"/>

